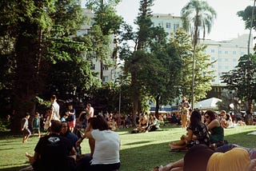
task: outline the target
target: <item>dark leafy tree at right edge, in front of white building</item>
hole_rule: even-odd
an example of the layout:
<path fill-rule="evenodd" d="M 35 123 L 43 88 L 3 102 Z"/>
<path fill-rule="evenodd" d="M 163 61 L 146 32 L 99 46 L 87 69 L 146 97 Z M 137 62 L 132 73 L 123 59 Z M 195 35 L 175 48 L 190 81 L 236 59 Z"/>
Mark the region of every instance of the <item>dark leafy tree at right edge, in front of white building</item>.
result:
<path fill-rule="evenodd" d="M 256 97 L 255 54 L 243 55 L 238 61 L 238 66 L 234 70 L 224 73 L 222 79 L 228 89 L 235 90 L 242 101 L 247 101 L 247 104 L 251 104 Z"/>

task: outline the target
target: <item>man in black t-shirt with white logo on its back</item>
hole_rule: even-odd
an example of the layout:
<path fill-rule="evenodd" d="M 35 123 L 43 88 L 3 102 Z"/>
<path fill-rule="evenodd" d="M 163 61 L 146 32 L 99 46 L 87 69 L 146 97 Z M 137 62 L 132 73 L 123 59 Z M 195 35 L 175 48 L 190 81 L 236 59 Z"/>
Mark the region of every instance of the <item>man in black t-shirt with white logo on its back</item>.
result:
<path fill-rule="evenodd" d="M 35 171 L 74 170 L 75 149 L 66 137 L 59 136 L 60 121 L 52 121 L 50 134 L 41 137 L 34 149 Z"/>

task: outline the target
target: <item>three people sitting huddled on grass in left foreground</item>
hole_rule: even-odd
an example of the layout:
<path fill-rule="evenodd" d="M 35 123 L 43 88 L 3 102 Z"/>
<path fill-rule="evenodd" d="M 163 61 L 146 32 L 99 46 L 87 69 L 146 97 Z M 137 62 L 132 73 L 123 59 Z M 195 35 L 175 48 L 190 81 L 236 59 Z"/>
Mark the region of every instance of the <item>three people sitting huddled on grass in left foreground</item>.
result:
<path fill-rule="evenodd" d="M 80 144 L 88 138 L 90 153 L 81 155 Z M 70 133 L 66 122 L 52 121 L 50 133 L 41 137 L 34 156 L 26 153 L 34 171 L 114 171 L 120 167 L 120 137 L 104 117 L 90 117 L 84 135 Z M 24 169 L 26 170 L 26 169 Z"/>

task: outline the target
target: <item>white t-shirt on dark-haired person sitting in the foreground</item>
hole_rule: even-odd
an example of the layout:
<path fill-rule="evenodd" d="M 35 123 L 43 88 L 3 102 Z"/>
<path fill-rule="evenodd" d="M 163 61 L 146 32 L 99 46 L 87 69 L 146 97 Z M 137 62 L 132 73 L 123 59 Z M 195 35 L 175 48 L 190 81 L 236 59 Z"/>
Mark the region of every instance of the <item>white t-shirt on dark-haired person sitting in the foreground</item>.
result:
<path fill-rule="evenodd" d="M 91 165 L 114 164 L 120 162 L 120 137 L 111 130 L 94 129 L 91 132 L 95 139 L 95 149 Z"/>

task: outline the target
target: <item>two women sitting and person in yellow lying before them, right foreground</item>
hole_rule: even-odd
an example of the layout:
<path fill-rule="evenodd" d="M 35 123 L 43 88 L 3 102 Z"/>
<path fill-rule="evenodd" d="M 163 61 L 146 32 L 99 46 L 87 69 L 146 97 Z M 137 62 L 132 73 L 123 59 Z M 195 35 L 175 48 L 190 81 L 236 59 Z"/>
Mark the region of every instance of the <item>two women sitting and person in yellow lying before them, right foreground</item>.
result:
<path fill-rule="evenodd" d="M 186 150 L 185 157 L 154 171 L 253 171 L 256 170 L 256 149 L 227 144 L 224 129 L 215 113 L 207 110 L 202 115 L 194 110 L 186 135 L 170 142 L 170 150 Z"/>

